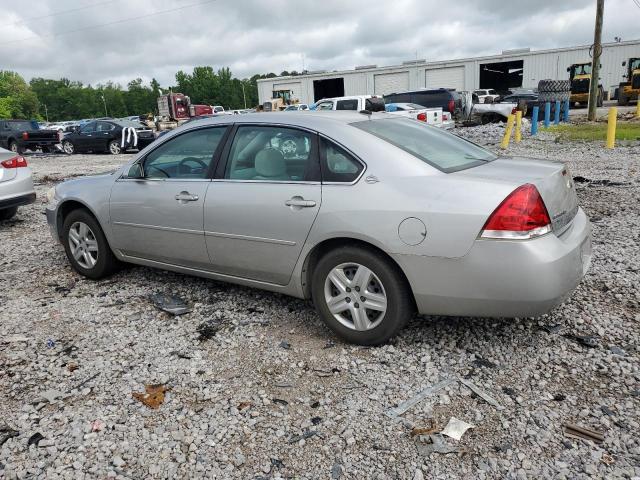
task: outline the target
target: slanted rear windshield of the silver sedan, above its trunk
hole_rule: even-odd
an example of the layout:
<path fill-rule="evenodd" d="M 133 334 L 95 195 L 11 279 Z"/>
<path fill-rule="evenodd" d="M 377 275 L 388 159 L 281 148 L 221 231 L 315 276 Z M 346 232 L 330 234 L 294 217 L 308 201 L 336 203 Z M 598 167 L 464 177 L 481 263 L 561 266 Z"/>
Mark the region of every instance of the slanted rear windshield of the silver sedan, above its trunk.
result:
<path fill-rule="evenodd" d="M 389 118 L 352 125 L 445 173 L 475 167 L 498 158 L 474 143 L 416 120 Z"/>

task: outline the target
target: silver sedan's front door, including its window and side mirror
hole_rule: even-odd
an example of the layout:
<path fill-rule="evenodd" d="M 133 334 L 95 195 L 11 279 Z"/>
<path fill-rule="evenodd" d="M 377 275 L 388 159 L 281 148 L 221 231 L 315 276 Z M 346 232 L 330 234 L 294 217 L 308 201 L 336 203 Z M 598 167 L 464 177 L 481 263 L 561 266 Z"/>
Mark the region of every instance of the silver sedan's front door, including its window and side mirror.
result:
<path fill-rule="evenodd" d="M 210 267 L 203 206 L 226 128 L 199 128 L 175 136 L 140 161 L 142 178 L 115 182 L 110 199 L 115 248 L 132 257 Z"/>

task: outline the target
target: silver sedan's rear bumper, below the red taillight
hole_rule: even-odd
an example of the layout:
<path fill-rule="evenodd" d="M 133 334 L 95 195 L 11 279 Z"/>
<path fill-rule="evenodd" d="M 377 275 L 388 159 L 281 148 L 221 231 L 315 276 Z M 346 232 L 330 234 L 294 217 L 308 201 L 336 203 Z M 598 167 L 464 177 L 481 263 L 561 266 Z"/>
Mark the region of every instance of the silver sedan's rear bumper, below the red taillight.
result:
<path fill-rule="evenodd" d="M 456 259 L 394 255 L 418 311 L 429 315 L 533 317 L 567 298 L 591 263 L 591 226 L 582 209 L 560 237 L 477 240 Z"/>

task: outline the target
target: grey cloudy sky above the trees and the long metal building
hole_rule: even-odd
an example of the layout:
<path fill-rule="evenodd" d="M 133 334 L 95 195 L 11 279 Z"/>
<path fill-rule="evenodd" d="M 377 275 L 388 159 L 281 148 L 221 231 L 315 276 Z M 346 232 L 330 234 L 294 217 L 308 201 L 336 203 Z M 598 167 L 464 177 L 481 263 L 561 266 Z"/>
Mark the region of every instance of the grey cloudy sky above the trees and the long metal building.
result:
<path fill-rule="evenodd" d="M 238 77 L 590 44 L 595 0 L 0 0 L 0 69 L 84 83 L 228 66 Z M 640 2 L 639 2 L 640 3 Z M 603 41 L 640 37 L 606 0 Z"/>

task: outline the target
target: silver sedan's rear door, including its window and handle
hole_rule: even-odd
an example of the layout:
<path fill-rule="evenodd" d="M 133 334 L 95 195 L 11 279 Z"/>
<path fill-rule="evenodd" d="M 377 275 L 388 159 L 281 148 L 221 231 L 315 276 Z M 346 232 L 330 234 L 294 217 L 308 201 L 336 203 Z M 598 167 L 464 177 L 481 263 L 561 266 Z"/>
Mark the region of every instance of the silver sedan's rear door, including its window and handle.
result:
<path fill-rule="evenodd" d="M 288 127 L 238 127 L 205 201 L 214 271 L 289 282 L 322 201 L 316 141 Z"/>

